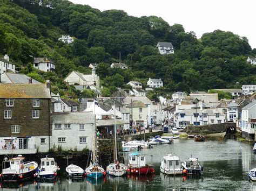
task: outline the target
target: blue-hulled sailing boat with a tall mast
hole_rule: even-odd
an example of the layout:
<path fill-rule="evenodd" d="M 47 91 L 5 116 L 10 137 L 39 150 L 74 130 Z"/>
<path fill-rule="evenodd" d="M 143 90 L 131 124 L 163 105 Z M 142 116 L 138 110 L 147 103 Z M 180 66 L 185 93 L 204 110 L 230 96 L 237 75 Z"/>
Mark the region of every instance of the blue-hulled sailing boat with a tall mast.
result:
<path fill-rule="evenodd" d="M 96 115 L 95 115 L 95 105 L 99 107 L 99 104 L 97 100 L 94 100 L 94 110 L 93 110 L 93 115 L 94 115 L 94 123 L 93 123 L 93 138 L 92 138 L 92 152 L 91 152 L 91 162 L 90 165 L 84 170 L 84 175 L 87 178 L 91 179 L 99 179 L 103 178 L 104 175 L 106 175 L 106 171 L 99 166 L 98 164 L 98 149 L 97 149 L 97 139 L 96 139 L 96 133 L 97 133 L 97 128 L 96 128 Z"/>

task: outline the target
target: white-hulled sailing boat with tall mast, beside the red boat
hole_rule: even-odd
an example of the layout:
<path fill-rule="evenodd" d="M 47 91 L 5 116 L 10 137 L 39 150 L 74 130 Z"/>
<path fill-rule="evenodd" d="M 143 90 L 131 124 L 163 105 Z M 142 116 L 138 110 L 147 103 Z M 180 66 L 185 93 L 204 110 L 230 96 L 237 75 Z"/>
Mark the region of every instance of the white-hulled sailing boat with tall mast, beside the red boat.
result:
<path fill-rule="evenodd" d="M 114 102 L 116 103 L 116 102 Z M 116 105 L 114 105 L 116 108 Z M 106 167 L 106 172 L 112 176 L 123 176 L 126 174 L 127 167 L 117 159 L 117 127 L 116 127 L 116 109 L 114 109 L 114 147 L 113 147 L 113 163 Z"/>

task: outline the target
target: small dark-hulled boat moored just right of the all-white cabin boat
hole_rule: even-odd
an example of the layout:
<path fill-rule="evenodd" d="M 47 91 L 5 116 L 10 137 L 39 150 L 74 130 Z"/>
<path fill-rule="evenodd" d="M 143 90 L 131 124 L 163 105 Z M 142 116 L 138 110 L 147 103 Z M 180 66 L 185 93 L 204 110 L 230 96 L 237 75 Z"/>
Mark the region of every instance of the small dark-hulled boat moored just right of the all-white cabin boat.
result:
<path fill-rule="evenodd" d="M 203 174 L 204 167 L 201 167 L 198 158 L 187 158 L 181 166 L 183 173 L 187 175 L 201 175 Z"/>

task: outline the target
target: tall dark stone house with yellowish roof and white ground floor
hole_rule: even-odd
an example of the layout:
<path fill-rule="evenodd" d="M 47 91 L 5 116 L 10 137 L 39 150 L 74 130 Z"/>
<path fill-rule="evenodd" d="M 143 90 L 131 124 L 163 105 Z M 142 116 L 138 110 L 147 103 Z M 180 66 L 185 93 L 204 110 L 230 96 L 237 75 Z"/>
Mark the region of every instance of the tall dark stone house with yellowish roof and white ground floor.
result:
<path fill-rule="evenodd" d="M 0 83 L 0 154 L 46 152 L 50 143 L 50 82 Z"/>

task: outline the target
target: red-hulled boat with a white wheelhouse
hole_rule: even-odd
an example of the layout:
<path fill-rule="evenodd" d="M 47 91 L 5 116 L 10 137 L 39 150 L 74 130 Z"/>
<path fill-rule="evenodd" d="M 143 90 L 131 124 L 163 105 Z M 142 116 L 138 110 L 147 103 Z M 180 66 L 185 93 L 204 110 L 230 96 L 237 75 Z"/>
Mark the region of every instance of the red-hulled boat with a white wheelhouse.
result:
<path fill-rule="evenodd" d="M 146 155 L 140 153 L 129 154 L 129 164 L 127 171 L 131 174 L 147 175 L 154 173 L 154 167 L 146 164 Z M 152 155 L 150 155 L 152 158 Z"/>

